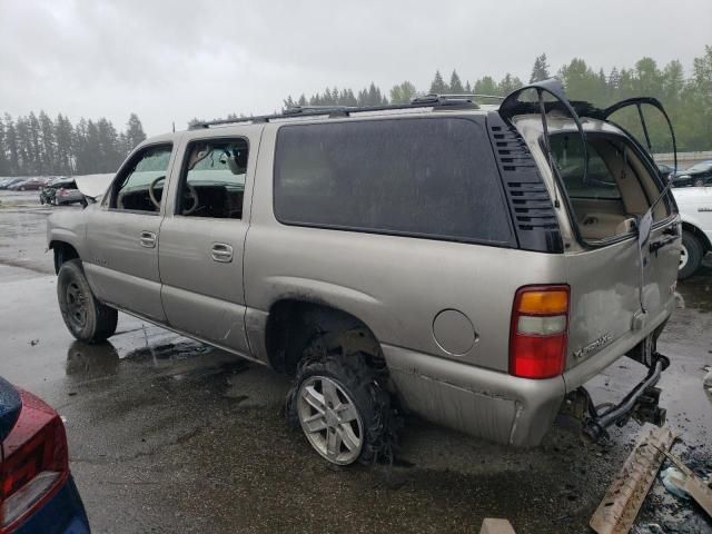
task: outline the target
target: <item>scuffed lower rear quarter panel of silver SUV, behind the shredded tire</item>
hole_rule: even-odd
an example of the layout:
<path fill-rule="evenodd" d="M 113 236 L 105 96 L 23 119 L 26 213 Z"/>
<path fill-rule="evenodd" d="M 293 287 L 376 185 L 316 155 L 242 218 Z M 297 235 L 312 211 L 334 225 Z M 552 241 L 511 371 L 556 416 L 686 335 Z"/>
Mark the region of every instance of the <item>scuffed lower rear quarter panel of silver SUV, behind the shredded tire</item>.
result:
<path fill-rule="evenodd" d="M 383 352 L 408 409 L 495 443 L 538 445 L 566 394 L 561 376 L 533 380 L 400 347 Z"/>

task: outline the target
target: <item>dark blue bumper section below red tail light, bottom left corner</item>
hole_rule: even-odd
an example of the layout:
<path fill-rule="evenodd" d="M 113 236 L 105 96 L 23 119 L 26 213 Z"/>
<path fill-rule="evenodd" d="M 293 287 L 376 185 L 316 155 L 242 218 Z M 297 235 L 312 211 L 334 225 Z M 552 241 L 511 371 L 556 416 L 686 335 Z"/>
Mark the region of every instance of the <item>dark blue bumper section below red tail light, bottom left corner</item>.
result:
<path fill-rule="evenodd" d="M 14 532 L 16 534 L 89 534 L 85 505 L 71 475 L 57 494 Z"/>

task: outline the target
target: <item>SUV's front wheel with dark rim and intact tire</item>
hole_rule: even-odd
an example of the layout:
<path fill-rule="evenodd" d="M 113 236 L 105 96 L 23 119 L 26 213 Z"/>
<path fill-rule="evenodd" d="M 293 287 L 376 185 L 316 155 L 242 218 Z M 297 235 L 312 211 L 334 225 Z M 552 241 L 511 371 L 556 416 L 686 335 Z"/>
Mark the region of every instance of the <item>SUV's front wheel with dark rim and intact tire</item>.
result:
<path fill-rule="evenodd" d="M 70 259 L 59 268 L 57 298 L 67 328 L 80 342 L 103 342 L 116 332 L 118 313 L 96 299 L 81 260 Z"/>

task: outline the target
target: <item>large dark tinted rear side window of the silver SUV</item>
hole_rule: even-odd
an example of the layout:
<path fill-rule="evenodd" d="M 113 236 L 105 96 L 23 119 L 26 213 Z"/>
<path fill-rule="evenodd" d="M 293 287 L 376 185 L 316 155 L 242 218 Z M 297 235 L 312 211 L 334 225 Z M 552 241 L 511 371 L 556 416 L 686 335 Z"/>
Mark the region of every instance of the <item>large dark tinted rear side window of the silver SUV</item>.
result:
<path fill-rule="evenodd" d="M 512 240 L 487 134 L 463 118 L 284 126 L 275 215 L 291 225 Z"/>

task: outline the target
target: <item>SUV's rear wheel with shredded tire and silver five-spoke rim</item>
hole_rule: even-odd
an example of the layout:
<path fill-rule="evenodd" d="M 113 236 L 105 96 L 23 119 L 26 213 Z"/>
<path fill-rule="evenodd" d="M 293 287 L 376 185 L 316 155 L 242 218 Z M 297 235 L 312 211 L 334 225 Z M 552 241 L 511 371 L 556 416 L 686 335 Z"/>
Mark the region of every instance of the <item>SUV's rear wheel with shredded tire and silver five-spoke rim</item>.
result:
<path fill-rule="evenodd" d="M 336 465 L 393 459 L 390 396 L 363 355 L 308 355 L 295 382 L 287 415 L 325 459 Z"/>

